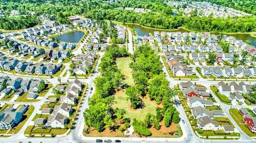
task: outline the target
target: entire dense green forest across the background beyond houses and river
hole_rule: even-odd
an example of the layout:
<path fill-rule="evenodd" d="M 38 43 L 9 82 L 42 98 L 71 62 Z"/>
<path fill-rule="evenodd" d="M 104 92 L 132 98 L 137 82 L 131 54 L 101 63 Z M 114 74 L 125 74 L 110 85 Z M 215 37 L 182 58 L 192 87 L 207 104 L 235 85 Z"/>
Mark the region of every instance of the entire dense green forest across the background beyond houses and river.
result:
<path fill-rule="evenodd" d="M 211 1 L 211 0 L 209 0 Z M 230 2 L 228 0 L 211 1 L 221 5 L 234 7 L 249 13 L 255 13 L 255 1 L 236 0 Z M 239 3 L 232 4 L 232 3 Z M 253 6 L 254 5 L 254 6 Z M 135 13 L 134 11 L 122 11 L 115 9 L 116 7 L 140 7 L 149 9 L 152 12 Z M 251 7 L 251 8 L 250 8 Z M 172 7 L 164 3 L 163 0 L 140 0 L 140 1 L 121 1 L 117 3 L 107 3 L 106 1 L 1 1 L 0 8 L 5 13 L 11 10 L 19 10 L 21 14 L 28 11 L 36 11 L 39 14 L 53 14 L 55 20 L 61 23 L 70 23 L 67 17 L 70 15 L 84 15 L 87 18 L 97 20 L 114 20 L 120 22 L 139 23 L 143 26 L 174 29 L 185 27 L 197 31 L 226 31 L 226 32 L 250 32 L 256 30 L 255 16 L 242 16 L 239 18 L 213 18 L 192 16 L 190 18 L 181 15 L 173 16 Z M 21 21 L 22 22 L 22 21 Z M 31 26 L 28 24 L 26 27 Z M 4 28 L 6 29 L 6 28 Z M 17 29 L 17 28 L 15 28 Z"/>

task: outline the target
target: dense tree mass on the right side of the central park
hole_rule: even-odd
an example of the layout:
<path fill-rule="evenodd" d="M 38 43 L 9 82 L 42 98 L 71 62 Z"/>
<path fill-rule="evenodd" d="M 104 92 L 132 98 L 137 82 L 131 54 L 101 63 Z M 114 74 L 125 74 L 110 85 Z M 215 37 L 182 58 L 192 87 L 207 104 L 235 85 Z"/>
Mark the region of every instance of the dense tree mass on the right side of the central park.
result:
<path fill-rule="evenodd" d="M 159 122 L 164 120 L 165 127 L 169 127 L 172 122 L 178 123 L 179 112 L 173 106 L 172 97 L 175 90 L 169 87 L 162 72 L 163 65 L 159 61 L 159 56 L 148 45 L 137 48 L 132 55 L 133 62 L 130 64 L 135 85 L 126 89 L 126 95 L 131 101 L 134 109 L 143 108 L 144 104 L 141 97 L 148 95 L 150 100 L 155 100 L 157 104 L 162 103 L 163 108 L 156 108 L 156 115 L 148 113 L 144 121 L 133 120 L 135 132 L 150 136 L 148 128 L 154 127 L 159 130 Z"/>

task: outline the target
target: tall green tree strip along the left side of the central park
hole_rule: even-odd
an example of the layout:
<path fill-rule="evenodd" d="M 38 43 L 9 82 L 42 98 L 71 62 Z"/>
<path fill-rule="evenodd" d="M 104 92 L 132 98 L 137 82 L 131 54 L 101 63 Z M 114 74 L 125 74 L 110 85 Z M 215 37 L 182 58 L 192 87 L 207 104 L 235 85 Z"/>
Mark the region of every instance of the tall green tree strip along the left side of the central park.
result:
<path fill-rule="evenodd" d="M 115 97 L 112 96 L 115 90 L 124 85 L 124 74 L 118 70 L 115 58 L 128 56 L 125 48 L 111 46 L 102 57 L 100 68 L 101 77 L 95 79 L 95 94 L 89 99 L 89 108 L 84 112 L 85 124 L 101 132 L 104 128 L 109 130 L 119 129 L 121 123 L 129 125 L 129 120 L 124 119 L 125 111 L 112 108 Z M 88 130 L 86 130 L 87 132 Z"/>

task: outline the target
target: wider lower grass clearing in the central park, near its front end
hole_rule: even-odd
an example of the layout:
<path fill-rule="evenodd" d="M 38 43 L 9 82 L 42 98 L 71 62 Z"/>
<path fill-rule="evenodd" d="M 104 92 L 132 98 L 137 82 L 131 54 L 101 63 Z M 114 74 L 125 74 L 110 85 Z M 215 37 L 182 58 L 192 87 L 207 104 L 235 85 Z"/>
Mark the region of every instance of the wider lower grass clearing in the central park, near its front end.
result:
<path fill-rule="evenodd" d="M 131 120 L 134 118 L 139 120 L 144 120 L 147 113 L 153 113 L 156 114 L 156 105 L 148 102 L 145 103 L 145 107 L 142 109 L 137 110 L 130 110 L 130 100 L 126 100 L 127 95 L 125 92 L 118 92 L 118 94 L 115 94 L 115 101 L 116 103 L 113 105 L 114 108 L 121 108 L 126 111 L 125 117 L 129 117 Z"/>

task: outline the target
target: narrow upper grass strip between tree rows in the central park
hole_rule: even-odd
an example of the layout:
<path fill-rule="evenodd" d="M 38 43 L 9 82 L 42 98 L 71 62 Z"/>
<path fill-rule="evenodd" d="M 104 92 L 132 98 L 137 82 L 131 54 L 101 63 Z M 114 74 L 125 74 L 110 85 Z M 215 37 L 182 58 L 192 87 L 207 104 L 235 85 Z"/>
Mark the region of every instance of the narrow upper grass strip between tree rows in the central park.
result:
<path fill-rule="evenodd" d="M 129 68 L 129 63 L 131 63 L 132 60 L 130 60 L 129 57 L 121 57 L 116 59 L 116 65 L 118 69 L 122 71 L 122 73 L 125 75 L 126 79 L 125 82 L 131 86 L 133 85 L 133 79 L 132 79 L 132 69 Z"/>

